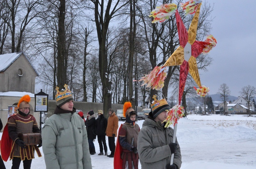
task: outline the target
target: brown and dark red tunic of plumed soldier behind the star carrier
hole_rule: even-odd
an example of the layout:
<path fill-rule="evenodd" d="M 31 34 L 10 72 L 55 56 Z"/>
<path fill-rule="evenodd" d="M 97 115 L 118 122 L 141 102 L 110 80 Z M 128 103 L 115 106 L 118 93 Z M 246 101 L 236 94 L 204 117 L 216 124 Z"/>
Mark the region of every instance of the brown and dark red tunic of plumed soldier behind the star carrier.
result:
<path fill-rule="evenodd" d="M 126 142 L 128 142 L 129 144 L 132 144 L 132 138 L 134 138 L 132 146 L 137 148 L 137 140 L 138 140 L 139 132 L 140 132 L 139 125 L 124 123 L 122 128 L 119 131 L 119 137 L 126 136 Z M 131 162 L 133 161 L 134 168 L 138 169 L 138 163 L 139 163 L 138 153 L 134 153 L 130 150 L 127 150 L 124 147 L 122 148 L 123 148 L 123 153 L 121 154 L 121 158 L 123 159 L 123 169 L 125 168 L 126 161 L 128 161 L 129 168 L 132 168 Z"/>

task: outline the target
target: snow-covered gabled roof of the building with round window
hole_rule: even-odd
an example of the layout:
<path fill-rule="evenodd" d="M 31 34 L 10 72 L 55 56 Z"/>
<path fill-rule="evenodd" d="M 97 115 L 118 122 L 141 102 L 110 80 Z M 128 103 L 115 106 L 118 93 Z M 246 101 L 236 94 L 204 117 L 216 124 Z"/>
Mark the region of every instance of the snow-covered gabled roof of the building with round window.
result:
<path fill-rule="evenodd" d="M 34 69 L 35 73 L 37 73 L 37 71 L 35 70 L 35 68 L 33 67 L 32 63 L 30 62 L 30 60 L 28 59 L 28 57 L 25 55 L 24 52 L 16 52 L 16 53 L 8 53 L 8 54 L 3 54 L 0 55 L 0 72 L 4 72 L 7 68 L 9 68 L 9 66 L 16 60 L 18 59 L 18 57 L 20 55 L 24 55 L 25 58 L 28 60 L 29 64 L 31 65 L 31 67 Z M 37 73 L 37 75 L 39 76 L 39 74 Z"/>

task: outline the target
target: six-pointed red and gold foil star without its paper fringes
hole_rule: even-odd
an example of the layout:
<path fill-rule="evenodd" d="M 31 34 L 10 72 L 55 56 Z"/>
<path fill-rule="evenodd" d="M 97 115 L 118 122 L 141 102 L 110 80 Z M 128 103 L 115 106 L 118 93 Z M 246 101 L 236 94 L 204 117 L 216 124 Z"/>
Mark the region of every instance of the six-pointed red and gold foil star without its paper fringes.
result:
<path fill-rule="evenodd" d="M 178 94 L 179 105 L 181 104 L 182 94 L 185 88 L 188 72 L 193 77 L 197 85 L 201 87 L 196 58 L 198 57 L 199 54 L 203 52 L 206 42 L 196 40 L 200 6 L 201 6 L 201 3 L 198 4 L 197 10 L 195 12 L 195 16 L 190 24 L 188 31 L 186 30 L 186 27 L 181 19 L 179 12 L 176 10 L 175 16 L 176 16 L 180 46 L 174 51 L 174 53 L 169 57 L 169 59 L 163 65 L 166 67 L 173 66 L 173 65 L 180 65 L 179 94 Z"/>

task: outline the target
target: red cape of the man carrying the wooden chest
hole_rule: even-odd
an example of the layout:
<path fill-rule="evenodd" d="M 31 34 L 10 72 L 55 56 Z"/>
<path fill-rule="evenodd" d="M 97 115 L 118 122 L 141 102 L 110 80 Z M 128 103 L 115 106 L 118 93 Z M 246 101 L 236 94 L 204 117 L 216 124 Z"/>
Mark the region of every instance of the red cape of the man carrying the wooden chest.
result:
<path fill-rule="evenodd" d="M 16 114 L 12 116 L 15 116 L 15 115 Z M 1 156 L 3 161 L 7 162 L 10 156 L 11 150 L 12 150 L 12 139 L 10 138 L 8 133 L 8 123 L 7 123 L 3 129 L 2 139 L 0 140 L 0 151 L 1 151 Z"/>

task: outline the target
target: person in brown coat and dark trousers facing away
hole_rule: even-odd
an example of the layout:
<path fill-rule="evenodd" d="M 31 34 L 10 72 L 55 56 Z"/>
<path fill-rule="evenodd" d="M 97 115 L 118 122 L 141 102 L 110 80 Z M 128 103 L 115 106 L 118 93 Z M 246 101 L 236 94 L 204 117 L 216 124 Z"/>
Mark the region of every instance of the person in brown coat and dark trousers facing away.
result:
<path fill-rule="evenodd" d="M 106 128 L 106 136 L 109 139 L 109 149 L 111 151 L 108 157 L 114 157 L 115 153 L 115 137 L 117 136 L 117 129 L 118 129 L 118 117 L 116 116 L 113 109 L 109 109 L 109 119 L 108 119 L 108 126 Z"/>

